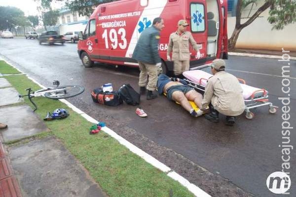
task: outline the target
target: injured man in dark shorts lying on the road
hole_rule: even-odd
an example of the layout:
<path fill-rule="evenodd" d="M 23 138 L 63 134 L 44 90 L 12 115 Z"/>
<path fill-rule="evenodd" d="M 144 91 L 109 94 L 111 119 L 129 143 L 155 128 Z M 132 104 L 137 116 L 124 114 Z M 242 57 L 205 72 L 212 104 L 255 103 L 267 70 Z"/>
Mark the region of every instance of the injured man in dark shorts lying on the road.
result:
<path fill-rule="evenodd" d="M 170 78 L 167 75 L 160 74 L 157 80 L 157 91 L 161 94 L 166 94 L 169 100 L 179 102 L 192 116 L 198 117 L 203 114 L 203 111 L 198 109 L 195 111 L 188 100 L 201 108 L 202 95 L 187 85 L 183 79 Z"/>

